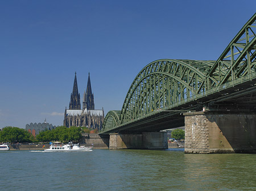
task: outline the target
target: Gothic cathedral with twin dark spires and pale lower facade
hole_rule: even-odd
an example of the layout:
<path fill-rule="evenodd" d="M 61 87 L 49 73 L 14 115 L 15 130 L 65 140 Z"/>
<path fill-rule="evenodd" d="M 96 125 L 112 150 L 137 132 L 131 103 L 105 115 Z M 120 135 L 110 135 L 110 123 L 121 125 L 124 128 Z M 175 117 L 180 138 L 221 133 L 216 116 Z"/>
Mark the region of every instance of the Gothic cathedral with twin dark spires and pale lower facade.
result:
<path fill-rule="evenodd" d="M 86 92 L 84 91 L 84 99 L 82 100 L 82 109 L 80 102 L 80 94 L 77 87 L 76 73 L 73 85 L 73 92 L 69 102 L 69 109 L 65 108 L 63 125 L 84 126 L 90 129 L 102 129 L 104 121 L 104 110 L 94 109 L 94 95 L 90 86 L 90 73 L 88 76 Z"/>

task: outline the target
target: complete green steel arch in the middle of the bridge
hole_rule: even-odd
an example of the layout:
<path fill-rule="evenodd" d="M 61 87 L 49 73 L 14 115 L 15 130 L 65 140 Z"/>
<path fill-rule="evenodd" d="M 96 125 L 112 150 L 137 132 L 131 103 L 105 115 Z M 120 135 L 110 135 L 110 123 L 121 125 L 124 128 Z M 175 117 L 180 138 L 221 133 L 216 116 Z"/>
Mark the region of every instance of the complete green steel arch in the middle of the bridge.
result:
<path fill-rule="evenodd" d="M 196 63 L 207 63 L 204 69 Z M 121 124 L 205 90 L 207 61 L 157 60 L 144 67 L 131 84 L 121 110 Z"/>

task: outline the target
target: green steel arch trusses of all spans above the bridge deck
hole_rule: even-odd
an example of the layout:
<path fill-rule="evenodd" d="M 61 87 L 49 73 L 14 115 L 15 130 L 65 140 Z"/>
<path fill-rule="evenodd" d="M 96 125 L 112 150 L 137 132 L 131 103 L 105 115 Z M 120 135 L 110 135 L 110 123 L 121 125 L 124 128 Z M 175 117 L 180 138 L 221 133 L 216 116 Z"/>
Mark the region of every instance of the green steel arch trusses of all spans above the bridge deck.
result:
<path fill-rule="evenodd" d="M 110 111 L 106 115 L 103 131 L 115 129 L 161 109 L 170 110 L 188 100 L 200 99 L 220 91 L 220 88 L 234 86 L 234 83 L 243 83 L 243 79 L 254 77 L 255 20 L 256 14 L 217 61 L 166 59 L 149 63 L 131 84 L 121 111 Z"/>

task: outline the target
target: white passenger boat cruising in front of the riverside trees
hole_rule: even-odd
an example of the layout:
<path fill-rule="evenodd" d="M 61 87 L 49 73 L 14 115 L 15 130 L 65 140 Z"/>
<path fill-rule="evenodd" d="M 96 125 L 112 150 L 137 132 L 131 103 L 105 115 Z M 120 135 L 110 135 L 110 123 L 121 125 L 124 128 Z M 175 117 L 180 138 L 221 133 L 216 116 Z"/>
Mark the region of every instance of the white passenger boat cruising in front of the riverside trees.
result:
<path fill-rule="evenodd" d="M 80 151 L 91 151 L 93 148 L 92 146 L 86 147 L 81 146 L 79 143 L 73 144 L 72 142 L 69 142 L 67 145 L 63 145 L 61 142 L 53 142 L 52 145 L 44 150 L 44 152 L 80 152 Z"/>

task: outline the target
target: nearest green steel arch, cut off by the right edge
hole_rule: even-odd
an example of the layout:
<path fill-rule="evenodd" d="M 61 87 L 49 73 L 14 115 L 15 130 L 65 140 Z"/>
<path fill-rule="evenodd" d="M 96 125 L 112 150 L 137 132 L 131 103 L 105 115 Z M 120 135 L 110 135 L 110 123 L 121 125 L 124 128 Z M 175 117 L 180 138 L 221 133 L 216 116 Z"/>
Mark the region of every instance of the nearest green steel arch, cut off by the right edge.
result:
<path fill-rule="evenodd" d="M 209 88 L 255 73 L 255 20 L 256 14 L 242 27 L 214 63 L 207 74 Z"/>

